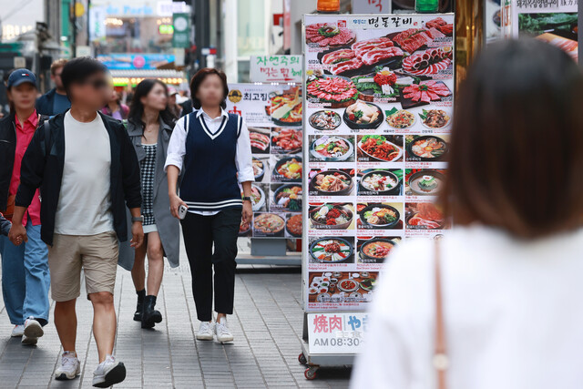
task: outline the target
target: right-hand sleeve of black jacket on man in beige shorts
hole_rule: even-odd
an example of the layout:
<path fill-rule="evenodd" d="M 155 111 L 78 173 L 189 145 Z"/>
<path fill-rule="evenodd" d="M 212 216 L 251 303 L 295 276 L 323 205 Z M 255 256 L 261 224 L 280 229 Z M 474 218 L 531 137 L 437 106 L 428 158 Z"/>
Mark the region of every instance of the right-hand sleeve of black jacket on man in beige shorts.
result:
<path fill-rule="evenodd" d="M 138 156 L 128 132 L 121 128 L 121 174 L 128 208 L 140 208 L 142 206 L 141 182 Z"/>

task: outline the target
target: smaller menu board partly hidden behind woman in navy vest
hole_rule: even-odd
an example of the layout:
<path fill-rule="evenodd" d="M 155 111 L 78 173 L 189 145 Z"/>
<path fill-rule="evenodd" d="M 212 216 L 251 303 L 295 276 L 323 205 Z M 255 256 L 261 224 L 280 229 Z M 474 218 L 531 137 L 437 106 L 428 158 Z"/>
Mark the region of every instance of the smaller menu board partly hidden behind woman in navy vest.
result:
<path fill-rule="evenodd" d="M 302 87 L 230 84 L 227 111 L 245 119 L 255 182 L 253 220 L 240 237 L 302 236 Z"/>

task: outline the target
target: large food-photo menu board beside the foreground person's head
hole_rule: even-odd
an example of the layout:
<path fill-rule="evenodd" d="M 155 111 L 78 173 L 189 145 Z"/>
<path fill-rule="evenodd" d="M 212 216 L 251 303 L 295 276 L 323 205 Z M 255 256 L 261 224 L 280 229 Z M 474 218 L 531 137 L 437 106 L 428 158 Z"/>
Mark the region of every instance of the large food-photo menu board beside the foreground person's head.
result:
<path fill-rule="evenodd" d="M 399 242 L 447 228 L 454 15 L 305 15 L 304 306 L 363 311 Z"/>

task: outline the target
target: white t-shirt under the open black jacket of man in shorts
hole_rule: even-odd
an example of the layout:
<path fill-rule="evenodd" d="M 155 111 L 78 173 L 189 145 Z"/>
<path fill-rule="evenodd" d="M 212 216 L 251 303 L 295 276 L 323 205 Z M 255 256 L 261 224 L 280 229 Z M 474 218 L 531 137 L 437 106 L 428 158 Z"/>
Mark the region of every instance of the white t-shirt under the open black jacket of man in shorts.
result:
<path fill-rule="evenodd" d="M 65 166 L 55 232 L 97 235 L 114 230 L 110 198 L 111 148 L 99 115 L 88 123 L 65 115 Z"/>

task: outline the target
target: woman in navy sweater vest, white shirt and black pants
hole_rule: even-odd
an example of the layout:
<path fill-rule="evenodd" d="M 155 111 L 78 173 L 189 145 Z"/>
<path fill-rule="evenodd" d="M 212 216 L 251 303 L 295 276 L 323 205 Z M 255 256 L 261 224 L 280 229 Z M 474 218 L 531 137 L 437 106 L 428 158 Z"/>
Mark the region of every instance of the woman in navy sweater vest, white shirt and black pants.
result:
<path fill-rule="evenodd" d="M 233 312 L 237 236 L 241 217 L 247 224 L 252 216 L 251 140 L 243 119 L 225 111 L 229 87 L 223 72 L 200 69 L 190 93 L 195 110 L 177 122 L 166 159 L 170 210 L 179 218 L 179 207 L 188 208 L 181 224 L 200 321 L 197 339 L 212 340 L 216 334 L 217 341 L 230 342 L 226 315 Z"/>

